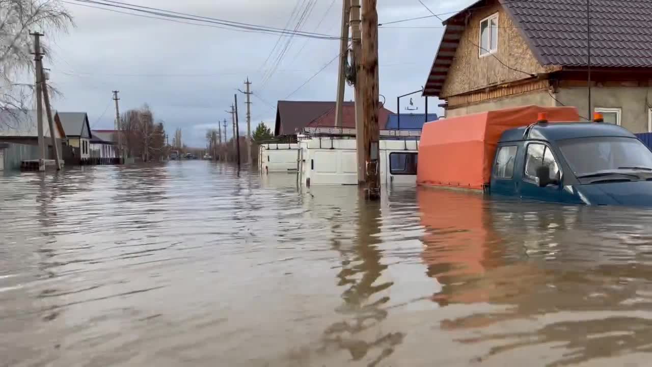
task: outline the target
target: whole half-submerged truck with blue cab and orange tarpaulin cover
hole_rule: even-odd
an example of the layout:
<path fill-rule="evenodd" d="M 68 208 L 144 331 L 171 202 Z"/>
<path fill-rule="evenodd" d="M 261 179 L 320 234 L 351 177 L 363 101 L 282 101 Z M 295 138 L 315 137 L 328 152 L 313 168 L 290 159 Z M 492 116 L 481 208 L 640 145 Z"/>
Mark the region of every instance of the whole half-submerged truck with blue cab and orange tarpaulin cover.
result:
<path fill-rule="evenodd" d="M 426 123 L 417 184 L 511 199 L 652 206 L 652 152 L 572 107 L 526 106 Z"/>

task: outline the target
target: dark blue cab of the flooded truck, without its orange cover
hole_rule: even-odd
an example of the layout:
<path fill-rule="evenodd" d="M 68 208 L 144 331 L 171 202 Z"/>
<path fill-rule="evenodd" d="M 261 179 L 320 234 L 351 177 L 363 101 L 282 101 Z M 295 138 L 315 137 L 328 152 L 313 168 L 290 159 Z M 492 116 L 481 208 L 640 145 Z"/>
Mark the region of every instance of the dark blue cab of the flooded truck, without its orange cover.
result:
<path fill-rule="evenodd" d="M 617 125 L 539 122 L 501 135 L 486 191 L 543 202 L 652 206 L 652 152 Z"/>

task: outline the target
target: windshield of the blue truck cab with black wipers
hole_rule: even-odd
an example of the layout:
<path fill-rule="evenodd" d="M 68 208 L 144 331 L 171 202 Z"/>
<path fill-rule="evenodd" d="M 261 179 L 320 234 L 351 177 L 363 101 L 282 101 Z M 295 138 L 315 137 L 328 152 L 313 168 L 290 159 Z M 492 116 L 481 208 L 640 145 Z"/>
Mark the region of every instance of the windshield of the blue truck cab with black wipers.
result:
<path fill-rule="evenodd" d="M 559 148 L 577 176 L 608 170 L 652 170 L 652 152 L 637 138 L 567 139 L 559 141 Z"/>

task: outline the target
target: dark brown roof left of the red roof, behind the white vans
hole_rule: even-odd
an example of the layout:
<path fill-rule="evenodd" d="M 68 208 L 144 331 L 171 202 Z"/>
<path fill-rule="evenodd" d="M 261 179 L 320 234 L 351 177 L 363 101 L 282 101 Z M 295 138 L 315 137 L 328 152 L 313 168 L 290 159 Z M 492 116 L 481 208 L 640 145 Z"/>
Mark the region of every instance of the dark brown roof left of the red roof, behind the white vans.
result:
<path fill-rule="evenodd" d="M 344 105 L 352 104 L 345 102 Z M 334 102 L 278 101 L 274 135 L 295 135 L 335 107 Z"/>

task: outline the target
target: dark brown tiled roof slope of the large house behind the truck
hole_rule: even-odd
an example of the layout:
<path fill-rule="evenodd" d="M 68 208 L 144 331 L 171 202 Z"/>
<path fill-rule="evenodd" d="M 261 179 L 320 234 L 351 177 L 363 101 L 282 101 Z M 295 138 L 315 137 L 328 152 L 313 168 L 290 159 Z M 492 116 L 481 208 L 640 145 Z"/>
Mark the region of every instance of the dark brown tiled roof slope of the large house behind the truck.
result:
<path fill-rule="evenodd" d="M 586 0 L 501 0 L 541 65 L 585 67 Z M 652 67 L 652 0 L 591 0 L 591 65 Z"/>

